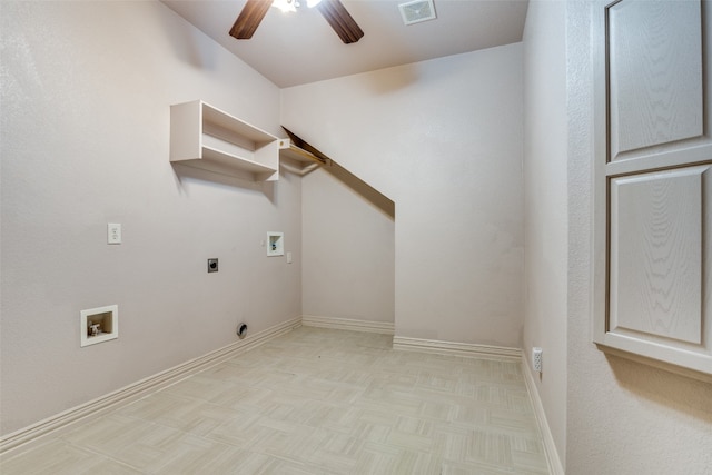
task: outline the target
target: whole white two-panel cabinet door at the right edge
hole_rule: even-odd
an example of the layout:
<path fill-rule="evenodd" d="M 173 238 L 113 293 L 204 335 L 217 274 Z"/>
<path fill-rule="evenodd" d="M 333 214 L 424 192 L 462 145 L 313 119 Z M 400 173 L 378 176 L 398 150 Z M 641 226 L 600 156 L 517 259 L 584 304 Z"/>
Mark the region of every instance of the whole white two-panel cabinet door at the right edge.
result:
<path fill-rule="evenodd" d="M 600 3 L 594 342 L 712 379 L 708 2 Z"/>

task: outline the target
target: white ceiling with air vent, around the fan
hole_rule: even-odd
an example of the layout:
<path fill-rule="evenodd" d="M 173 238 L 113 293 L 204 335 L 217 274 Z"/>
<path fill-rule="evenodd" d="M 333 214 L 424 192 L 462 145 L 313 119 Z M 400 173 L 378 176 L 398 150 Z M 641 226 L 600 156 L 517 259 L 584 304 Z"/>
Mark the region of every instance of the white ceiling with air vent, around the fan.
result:
<path fill-rule="evenodd" d="M 364 30 L 344 44 L 316 9 L 270 8 L 249 40 L 228 34 L 246 0 L 162 2 L 280 88 L 522 40 L 526 0 L 434 0 L 436 20 L 403 24 L 409 0 L 342 0 Z"/>

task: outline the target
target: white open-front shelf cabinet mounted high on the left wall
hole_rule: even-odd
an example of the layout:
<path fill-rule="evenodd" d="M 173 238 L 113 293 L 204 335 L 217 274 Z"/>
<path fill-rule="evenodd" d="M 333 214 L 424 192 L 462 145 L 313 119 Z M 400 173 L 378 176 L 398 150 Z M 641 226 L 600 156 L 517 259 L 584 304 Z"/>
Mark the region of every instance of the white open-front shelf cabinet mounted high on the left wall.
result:
<path fill-rule="evenodd" d="M 201 100 L 170 107 L 170 161 L 256 181 L 279 178 L 279 140 Z"/>

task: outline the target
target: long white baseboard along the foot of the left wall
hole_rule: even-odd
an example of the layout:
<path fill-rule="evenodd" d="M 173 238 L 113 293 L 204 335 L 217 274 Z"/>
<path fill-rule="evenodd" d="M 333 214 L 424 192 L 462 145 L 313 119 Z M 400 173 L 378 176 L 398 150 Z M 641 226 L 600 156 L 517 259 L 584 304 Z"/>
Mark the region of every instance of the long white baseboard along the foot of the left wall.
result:
<path fill-rule="evenodd" d="M 109 393 L 97 399 L 72 407 L 71 409 L 32 424 L 31 426 L 8 434 L 0 438 L 0 455 L 18 447 L 39 442 L 40 437 L 67 428 L 71 424 L 81 420 L 85 417 L 96 415 L 98 412 L 106 410 L 107 408 L 120 407 L 121 405 L 126 405 L 167 386 L 174 385 L 188 376 L 200 373 L 226 359 L 233 358 L 236 355 L 263 345 L 270 339 L 299 327 L 300 325 L 301 317 L 293 318 L 271 328 L 247 336 L 245 339 L 235 342 L 222 348 L 216 349 L 215 352 L 210 352 L 198 358 L 132 383 L 121 389 L 115 390 L 113 393 Z"/>

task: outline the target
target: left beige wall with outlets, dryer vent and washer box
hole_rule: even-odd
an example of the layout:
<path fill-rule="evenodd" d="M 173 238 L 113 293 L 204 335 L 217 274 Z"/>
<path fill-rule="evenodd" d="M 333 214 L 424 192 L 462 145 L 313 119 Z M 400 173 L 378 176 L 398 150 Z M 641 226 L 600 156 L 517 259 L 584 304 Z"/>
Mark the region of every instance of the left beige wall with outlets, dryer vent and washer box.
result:
<path fill-rule="evenodd" d="M 159 2 L 0 9 L 2 433 L 297 317 L 300 179 L 168 162 L 170 103 L 279 133 L 279 90 Z M 265 256 L 268 230 L 295 264 Z M 119 339 L 80 348 L 79 311 L 111 304 Z"/>

